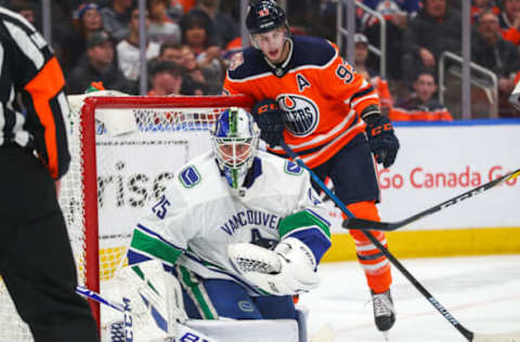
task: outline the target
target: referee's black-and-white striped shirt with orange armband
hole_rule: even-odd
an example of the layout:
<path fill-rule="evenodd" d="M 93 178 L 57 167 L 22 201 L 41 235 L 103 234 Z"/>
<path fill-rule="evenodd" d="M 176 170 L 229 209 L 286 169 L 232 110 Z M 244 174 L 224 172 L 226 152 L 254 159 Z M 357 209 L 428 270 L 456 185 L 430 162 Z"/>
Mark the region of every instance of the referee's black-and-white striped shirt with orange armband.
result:
<path fill-rule="evenodd" d="M 43 37 L 0 6 L 0 148 L 36 150 L 55 180 L 68 169 L 64 117 L 69 107 L 62 69 Z"/>

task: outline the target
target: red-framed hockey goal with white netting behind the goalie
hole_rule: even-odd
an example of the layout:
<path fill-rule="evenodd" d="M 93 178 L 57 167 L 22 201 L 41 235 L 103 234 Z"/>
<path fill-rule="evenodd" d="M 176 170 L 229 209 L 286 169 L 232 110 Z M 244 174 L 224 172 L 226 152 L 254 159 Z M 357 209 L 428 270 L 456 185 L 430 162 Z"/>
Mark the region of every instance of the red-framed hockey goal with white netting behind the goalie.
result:
<path fill-rule="evenodd" d="M 69 96 L 69 103 L 72 162 L 62 179 L 60 205 L 78 284 L 106 294 L 115 269 L 125 263 L 135 223 L 151 212 L 174 172 L 210 148 L 208 129 L 218 114 L 232 106 L 249 109 L 252 102 L 245 96 L 100 92 Z M 90 304 L 104 334 L 118 313 Z M 0 323 L 0 342 L 32 341 L 2 281 Z"/>

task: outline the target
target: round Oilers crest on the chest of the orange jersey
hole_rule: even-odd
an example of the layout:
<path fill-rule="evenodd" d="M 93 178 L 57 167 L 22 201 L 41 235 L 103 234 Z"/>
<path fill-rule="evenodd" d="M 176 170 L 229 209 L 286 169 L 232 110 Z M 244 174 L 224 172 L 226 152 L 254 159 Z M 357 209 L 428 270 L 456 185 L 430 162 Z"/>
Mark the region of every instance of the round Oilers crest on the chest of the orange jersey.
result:
<path fill-rule="evenodd" d="M 320 122 L 316 104 L 304 96 L 284 94 L 278 96 L 278 106 L 285 111 L 285 127 L 298 136 L 311 134 Z"/>

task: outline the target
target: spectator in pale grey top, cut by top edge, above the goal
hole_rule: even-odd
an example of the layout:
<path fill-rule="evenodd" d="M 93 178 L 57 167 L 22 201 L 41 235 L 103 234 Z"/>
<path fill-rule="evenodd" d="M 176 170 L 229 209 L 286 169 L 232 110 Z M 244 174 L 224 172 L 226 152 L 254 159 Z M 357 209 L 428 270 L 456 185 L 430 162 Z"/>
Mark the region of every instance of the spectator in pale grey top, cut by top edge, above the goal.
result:
<path fill-rule="evenodd" d="M 150 12 L 150 40 L 159 44 L 165 41 L 180 43 L 181 29 L 167 14 L 168 0 L 150 0 L 147 8 Z"/>

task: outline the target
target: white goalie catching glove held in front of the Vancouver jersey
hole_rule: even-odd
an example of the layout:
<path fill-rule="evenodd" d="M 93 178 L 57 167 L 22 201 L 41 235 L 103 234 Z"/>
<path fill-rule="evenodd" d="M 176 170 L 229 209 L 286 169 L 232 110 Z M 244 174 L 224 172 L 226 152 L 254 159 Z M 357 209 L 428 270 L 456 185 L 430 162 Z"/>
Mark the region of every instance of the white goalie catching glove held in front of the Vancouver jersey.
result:
<path fill-rule="evenodd" d="M 233 244 L 227 247 L 227 255 L 244 278 L 270 294 L 303 293 L 320 284 L 314 254 L 294 237 L 282 240 L 274 251 Z"/>

